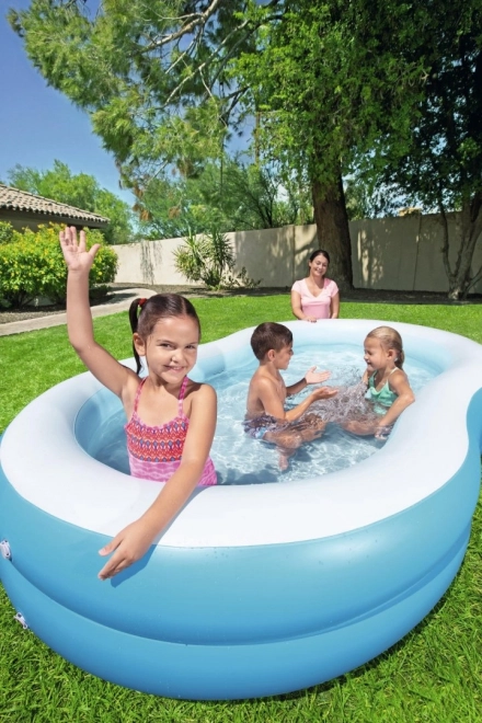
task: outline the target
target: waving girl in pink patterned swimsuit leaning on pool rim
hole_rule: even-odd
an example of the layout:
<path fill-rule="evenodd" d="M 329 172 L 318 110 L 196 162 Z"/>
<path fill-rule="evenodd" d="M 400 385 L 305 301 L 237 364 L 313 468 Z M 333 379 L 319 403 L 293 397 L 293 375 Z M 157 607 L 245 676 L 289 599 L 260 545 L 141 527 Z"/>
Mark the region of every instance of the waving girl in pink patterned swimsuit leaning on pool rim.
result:
<path fill-rule="evenodd" d="M 144 515 L 120 530 L 102 550 L 112 556 L 99 573 L 106 579 L 133 564 L 188 501 L 194 489 L 216 484 L 209 458 L 216 427 L 216 392 L 188 378 L 197 358 L 199 320 L 187 299 L 157 294 L 136 299 L 129 309 L 134 371 L 114 359 L 94 340 L 89 306 L 89 273 L 99 244 L 87 248 L 85 234 L 67 228 L 60 245 L 68 267 L 69 340 L 85 366 L 123 402 L 130 473 L 162 482 Z M 147 377 L 142 380 L 140 357 Z"/>

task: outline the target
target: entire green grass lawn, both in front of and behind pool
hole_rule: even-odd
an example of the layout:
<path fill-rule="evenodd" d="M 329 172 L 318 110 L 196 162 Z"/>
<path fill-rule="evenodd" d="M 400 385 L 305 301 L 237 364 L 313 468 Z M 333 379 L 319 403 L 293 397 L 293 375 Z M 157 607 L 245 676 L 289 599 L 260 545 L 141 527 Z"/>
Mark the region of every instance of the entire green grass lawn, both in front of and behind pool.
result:
<path fill-rule="evenodd" d="M 291 318 L 288 296 L 196 299 L 203 341 Z M 344 303 L 344 318 L 436 326 L 482 343 L 482 305 Z M 131 355 L 127 314 L 95 321 L 114 356 Z M 360 349 L 360 355 L 363 349 Z M 65 326 L 0 337 L 0 429 L 32 399 L 83 370 Z M 1 510 L 0 510 L 1 514 Z M 59 541 L 60 543 L 60 541 Z M 184 702 L 104 682 L 14 623 L 0 588 L 0 722 L 11 723 L 480 723 L 482 721 L 482 507 L 456 581 L 417 628 L 383 655 L 309 690 L 233 702 Z"/>

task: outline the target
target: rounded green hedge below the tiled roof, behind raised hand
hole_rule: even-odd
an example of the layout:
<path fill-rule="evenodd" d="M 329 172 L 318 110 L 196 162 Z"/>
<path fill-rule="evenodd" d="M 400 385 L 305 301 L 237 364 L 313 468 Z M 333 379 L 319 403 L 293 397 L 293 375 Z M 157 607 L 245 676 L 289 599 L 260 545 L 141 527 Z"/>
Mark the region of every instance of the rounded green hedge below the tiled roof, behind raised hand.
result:
<path fill-rule="evenodd" d="M 54 302 L 66 298 L 67 266 L 58 242 L 60 227 L 41 227 L 37 232 L 13 231 L 10 243 L 0 245 L 0 298 L 13 307 L 25 306 L 37 296 Z M 88 246 L 102 243 L 100 231 L 88 232 Z M 90 286 L 113 282 L 117 255 L 107 246 L 99 250 L 90 274 Z"/>

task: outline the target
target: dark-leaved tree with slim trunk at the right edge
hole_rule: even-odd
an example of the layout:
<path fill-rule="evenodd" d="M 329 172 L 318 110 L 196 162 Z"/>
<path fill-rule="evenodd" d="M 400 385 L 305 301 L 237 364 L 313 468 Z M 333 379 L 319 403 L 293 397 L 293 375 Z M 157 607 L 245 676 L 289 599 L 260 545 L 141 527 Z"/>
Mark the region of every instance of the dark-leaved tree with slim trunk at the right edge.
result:
<path fill-rule="evenodd" d="M 392 196 L 403 194 L 406 204 L 439 211 L 448 296 L 458 299 L 482 278 L 482 267 L 472 273 L 482 233 L 482 2 L 447 5 L 443 18 L 421 32 L 433 56 L 418 122 L 402 154 L 392 139 L 381 139 L 385 172 L 378 187 L 385 184 Z M 365 174 L 370 176 L 371 169 Z M 450 210 L 461 216 L 452 262 Z"/>

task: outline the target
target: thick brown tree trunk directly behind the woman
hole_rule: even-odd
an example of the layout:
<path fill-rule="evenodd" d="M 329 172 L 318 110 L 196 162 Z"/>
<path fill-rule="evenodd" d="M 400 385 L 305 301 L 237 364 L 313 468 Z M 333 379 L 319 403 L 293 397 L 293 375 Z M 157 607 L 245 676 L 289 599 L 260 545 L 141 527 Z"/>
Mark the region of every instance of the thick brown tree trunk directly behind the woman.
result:
<path fill-rule="evenodd" d="M 312 181 L 311 193 L 318 242 L 330 254 L 329 276 L 341 291 L 353 289 L 352 243 L 342 176 L 328 187 Z"/>

